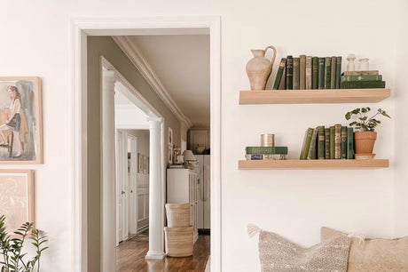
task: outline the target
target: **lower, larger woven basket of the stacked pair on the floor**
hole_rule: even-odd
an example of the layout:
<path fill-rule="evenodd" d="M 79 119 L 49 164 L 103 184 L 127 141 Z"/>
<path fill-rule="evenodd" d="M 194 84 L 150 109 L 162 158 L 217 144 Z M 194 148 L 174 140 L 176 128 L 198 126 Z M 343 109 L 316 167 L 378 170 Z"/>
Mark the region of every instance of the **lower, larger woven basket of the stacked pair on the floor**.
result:
<path fill-rule="evenodd" d="M 169 257 L 192 256 L 192 226 L 181 228 L 164 227 L 166 252 Z"/>

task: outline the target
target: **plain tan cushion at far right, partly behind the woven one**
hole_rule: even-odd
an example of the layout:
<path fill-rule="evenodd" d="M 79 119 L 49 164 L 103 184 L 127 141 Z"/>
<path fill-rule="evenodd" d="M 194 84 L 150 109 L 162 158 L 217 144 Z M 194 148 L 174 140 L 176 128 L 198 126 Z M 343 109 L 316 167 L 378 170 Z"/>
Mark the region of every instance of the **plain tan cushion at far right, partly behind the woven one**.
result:
<path fill-rule="evenodd" d="M 321 240 L 346 234 L 332 228 L 321 228 Z M 388 239 L 360 239 L 351 237 L 350 272 L 408 271 L 408 236 Z"/>

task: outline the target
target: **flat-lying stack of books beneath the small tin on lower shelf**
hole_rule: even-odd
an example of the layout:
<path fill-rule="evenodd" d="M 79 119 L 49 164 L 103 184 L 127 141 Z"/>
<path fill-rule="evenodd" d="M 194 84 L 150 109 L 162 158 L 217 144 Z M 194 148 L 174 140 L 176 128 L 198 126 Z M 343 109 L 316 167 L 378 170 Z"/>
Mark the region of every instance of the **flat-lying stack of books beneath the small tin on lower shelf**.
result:
<path fill-rule="evenodd" d="M 247 147 L 247 160 L 286 160 L 287 147 Z"/>

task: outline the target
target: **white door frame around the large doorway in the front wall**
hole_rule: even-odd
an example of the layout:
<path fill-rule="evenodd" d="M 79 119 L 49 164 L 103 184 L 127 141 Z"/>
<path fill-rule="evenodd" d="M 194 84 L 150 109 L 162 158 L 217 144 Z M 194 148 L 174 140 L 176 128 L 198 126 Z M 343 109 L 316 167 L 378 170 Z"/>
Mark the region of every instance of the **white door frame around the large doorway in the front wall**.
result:
<path fill-rule="evenodd" d="M 87 271 L 87 36 L 137 35 L 143 29 L 209 28 L 211 103 L 211 270 L 221 271 L 221 22 L 219 16 L 73 20 L 71 31 L 71 252 L 75 271 Z"/>

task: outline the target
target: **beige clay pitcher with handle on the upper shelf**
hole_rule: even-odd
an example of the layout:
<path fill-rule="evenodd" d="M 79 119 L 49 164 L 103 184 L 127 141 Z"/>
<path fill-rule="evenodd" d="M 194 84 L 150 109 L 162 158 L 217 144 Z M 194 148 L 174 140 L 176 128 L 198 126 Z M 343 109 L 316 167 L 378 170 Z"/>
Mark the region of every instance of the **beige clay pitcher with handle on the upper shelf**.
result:
<path fill-rule="evenodd" d="M 265 52 L 271 48 L 273 50 L 272 60 L 265 58 Z M 247 75 L 251 84 L 251 91 L 265 90 L 268 77 L 271 76 L 273 61 L 276 57 L 275 47 L 268 46 L 265 50 L 251 50 L 254 58 L 247 63 Z"/>

